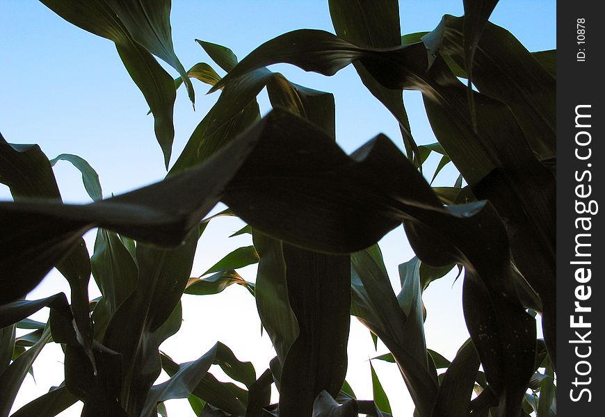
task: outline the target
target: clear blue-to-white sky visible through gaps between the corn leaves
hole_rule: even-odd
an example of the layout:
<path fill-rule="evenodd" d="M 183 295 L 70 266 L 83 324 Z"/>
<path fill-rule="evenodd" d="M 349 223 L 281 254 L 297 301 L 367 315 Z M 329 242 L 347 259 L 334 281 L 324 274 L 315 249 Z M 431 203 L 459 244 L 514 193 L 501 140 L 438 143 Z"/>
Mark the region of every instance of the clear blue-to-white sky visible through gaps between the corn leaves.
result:
<path fill-rule="evenodd" d="M 172 38 L 175 51 L 185 67 L 198 62 L 211 63 L 195 38 L 230 47 L 241 59 L 259 44 L 298 28 L 320 28 L 333 32 L 327 1 L 202 1 L 172 2 Z M 444 14 L 462 15 L 462 0 L 400 1 L 402 34 L 430 31 Z M 556 48 L 555 0 L 502 0 L 492 22 L 511 31 L 530 51 Z M 177 76 L 172 68 L 165 66 Z M 275 65 L 295 83 L 332 92 L 337 111 L 337 142 L 353 152 L 378 133 L 400 148 L 401 134 L 392 115 L 374 99 L 360 82 L 353 67 L 332 77 L 305 73 L 288 65 Z M 196 111 L 184 90 L 175 106 L 174 163 L 197 123 L 218 97 L 205 95 L 208 86 L 193 80 Z M 417 92 L 405 92 L 405 106 L 412 133 L 419 144 L 435 142 Z M 270 110 L 266 94 L 259 100 L 261 111 Z M 0 132 L 8 142 L 38 143 L 49 158 L 70 153 L 85 158 L 97 170 L 104 196 L 118 194 L 161 180 L 166 174 L 163 156 L 153 132 L 153 120 L 145 115 L 148 106 L 124 69 L 113 42 L 99 38 L 63 21 L 34 0 L 0 0 Z M 437 158 L 430 159 L 425 175 L 432 177 Z M 66 202 L 89 202 L 78 171 L 69 163 L 54 168 Z M 433 185 L 451 186 L 455 181 L 451 167 L 439 174 Z M 429 178 L 430 179 L 430 178 Z M 8 188 L 0 185 L 0 199 L 10 199 Z M 217 208 L 218 210 L 218 208 Z M 213 220 L 200 239 L 192 276 L 198 276 L 236 247 L 251 244 L 250 236 L 227 238 L 243 223 L 232 218 Z M 95 232 L 86 235 L 92 254 Z M 397 265 L 413 253 L 401 227 L 380 242 L 387 270 L 398 292 Z M 243 268 L 241 275 L 255 280 L 255 267 Z M 426 339 L 430 349 L 453 359 L 468 337 L 462 318 L 462 280 L 449 275 L 431 284 L 424 295 L 428 311 Z M 18 277 L 15 277 L 18 279 Z M 91 280 L 92 281 L 92 280 Z M 69 293 L 65 280 L 56 272 L 35 289 L 29 298 L 40 298 L 60 291 Z M 91 297 L 99 295 L 91 286 Z M 232 348 L 239 359 L 255 364 L 257 374 L 275 355 L 268 337 L 260 334 L 255 302 L 244 288 L 232 286 L 220 295 L 185 295 L 181 332 L 168 339 L 161 349 L 178 362 L 191 361 L 216 341 Z M 44 320 L 41 313 L 38 319 Z M 371 399 L 369 361 L 386 352 L 376 352 L 369 332 L 352 320 L 349 343 L 348 382 L 358 398 Z M 26 378 L 17 397 L 18 409 L 46 393 L 49 386 L 63 381 L 63 356 L 57 345 L 43 350 L 34 365 L 35 381 Z M 395 416 L 411 416 L 413 404 L 403 379 L 391 363 L 373 361 L 391 400 Z M 211 368 L 219 379 L 220 370 Z M 165 378 L 162 375 L 161 378 Z M 186 400 L 167 403 L 168 414 L 193 416 Z M 61 416 L 79 416 L 75 405 Z"/>

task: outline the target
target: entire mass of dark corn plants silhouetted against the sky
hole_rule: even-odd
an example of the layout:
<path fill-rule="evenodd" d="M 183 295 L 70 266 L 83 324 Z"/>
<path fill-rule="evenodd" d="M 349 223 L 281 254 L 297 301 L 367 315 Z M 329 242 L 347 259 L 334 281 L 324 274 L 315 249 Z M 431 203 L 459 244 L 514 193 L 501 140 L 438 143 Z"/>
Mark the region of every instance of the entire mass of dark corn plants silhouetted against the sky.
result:
<path fill-rule="evenodd" d="M 397 1 L 330 0 L 335 33 L 284 33 L 239 62 L 228 47 L 198 40 L 223 78 L 207 63 L 185 70 L 168 0 L 41 1 L 115 43 L 154 117 L 167 169 L 176 90 L 184 85 L 193 102 L 195 78 L 220 97 L 166 179 L 108 198 L 82 158 L 49 160 L 37 145 L 0 137 L 0 181 L 13 195 L 0 202 L 0 416 L 51 342 L 65 352 L 65 382 L 13 416 L 55 416 L 81 401 L 82 416 L 150 417 L 166 414 L 172 398 L 188 398 L 200 416 L 389 415 L 385 395 L 357 400 L 345 381 L 350 316 L 389 349 L 379 359 L 398 366 L 415 416 L 556 415 L 556 52 L 530 53 L 490 23 L 497 1 L 465 0 L 464 16 L 402 36 Z M 325 76 L 353 65 L 396 117 L 405 154 L 382 135 L 345 154 L 335 142 L 334 97 L 268 70 L 275 63 Z M 273 111 L 261 118 L 264 88 Z M 403 90 L 422 93 L 438 143 L 414 141 Z M 442 155 L 437 172 L 450 161 L 460 172 L 451 187 L 424 179 L 431 152 Z M 94 202 L 61 201 L 58 161 L 81 171 Z M 219 215 L 248 224 L 241 233 L 254 246 L 190 279 L 218 202 L 229 207 Z M 396 295 L 376 243 L 402 223 L 417 256 L 399 266 Z M 93 228 L 91 256 L 82 236 Z M 235 272 L 256 262 L 255 283 Z M 51 268 L 69 282 L 71 304 L 63 293 L 25 300 Z M 449 362 L 427 349 L 422 294 L 453 268 L 464 270 L 471 337 Z M 102 293 L 94 300 L 91 275 Z M 183 293 L 231 284 L 255 297 L 273 342 L 264 373 L 222 343 L 188 363 L 160 352 L 179 330 Z M 43 307 L 47 323 L 29 319 Z M 16 341 L 15 329 L 32 332 Z M 245 389 L 219 382 L 213 363 Z M 170 379 L 155 384 L 162 369 Z"/>

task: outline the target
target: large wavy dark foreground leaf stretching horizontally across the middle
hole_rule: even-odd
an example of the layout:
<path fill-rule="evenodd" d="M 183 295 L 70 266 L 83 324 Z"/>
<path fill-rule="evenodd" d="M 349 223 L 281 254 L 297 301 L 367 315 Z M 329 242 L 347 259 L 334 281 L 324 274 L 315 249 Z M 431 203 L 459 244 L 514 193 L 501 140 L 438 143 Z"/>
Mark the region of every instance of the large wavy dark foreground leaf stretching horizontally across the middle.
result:
<path fill-rule="evenodd" d="M 500 352 L 486 365 L 488 380 L 494 385 L 503 381 L 506 386 L 526 386 L 533 370 L 525 375 L 519 359 L 519 368 L 504 366 L 511 354 L 530 355 L 533 362 L 533 352 L 505 349 L 505 340 L 513 336 L 510 322 L 524 323 L 526 313 L 514 297 L 502 300 L 515 290 L 508 275 L 508 243 L 501 220 L 483 202 L 443 208 L 414 166 L 384 136 L 349 157 L 320 129 L 276 110 L 207 163 L 161 183 L 87 206 L 16 202 L 2 203 L 0 209 L 9 236 L 22 245 L 30 239 L 22 230 L 10 234 L 14 219 L 51 220 L 68 236 L 79 236 L 81 229 L 97 223 L 156 244 L 174 245 L 197 227 L 221 196 L 261 231 L 326 252 L 359 250 L 406 221 L 419 258 L 433 265 L 464 263 L 466 281 L 483 291 L 473 302 L 485 308 L 497 304 L 497 310 L 485 315 L 494 318 L 492 322 L 484 322 L 484 316 L 467 318 L 474 340 L 483 325 L 499 335 L 476 343 L 480 352 Z M 490 235 L 483 230 L 490 230 Z M 323 239 L 316 238 L 318 233 Z M 49 250 L 55 260 L 64 254 L 53 246 Z M 7 255 L 10 259 L 12 254 Z M 29 275 L 33 284 L 40 278 Z M 479 310 L 476 305 L 473 309 Z M 520 329 L 531 324 L 521 324 Z"/>

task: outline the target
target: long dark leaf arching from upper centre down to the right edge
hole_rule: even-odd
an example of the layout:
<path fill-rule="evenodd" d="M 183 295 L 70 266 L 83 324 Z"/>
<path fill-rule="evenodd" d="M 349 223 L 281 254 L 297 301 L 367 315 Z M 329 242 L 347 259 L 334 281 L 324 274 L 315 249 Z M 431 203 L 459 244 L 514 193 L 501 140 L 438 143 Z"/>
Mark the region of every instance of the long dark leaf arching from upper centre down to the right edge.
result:
<path fill-rule="evenodd" d="M 360 60 L 383 85 L 424 92 L 429 120 L 452 161 L 474 187 L 476 194 L 495 202 L 503 218 L 513 219 L 514 224 L 509 224 L 509 230 L 515 230 L 515 233 L 510 234 L 513 238 L 513 256 L 516 263 L 522 264 L 519 269 L 529 284 L 534 288 L 541 288 L 538 292 L 544 295 L 545 334 L 551 356 L 555 357 L 556 315 L 554 286 L 551 282 L 554 277 L 554 177 L 535 159 L 515 115 L 510 112 L 508 106 L 487 95 L 474 93 L 477 104 L 477 125 L 474 126 L 468 111 L 467 89 L 455 79 L 439 56 L 435 58 L 430 71 L 427 71 L 426 54 L 422 44 L 388 51 L 364 49 L 326 32 L 294 31 L 261 45 L 215 85 L 215 88 L 228 85 L 230 81 L 258 67 L 277 62 L 292 63 L 303 70 L 331 75 L 349 63 Z M 551 104 L 549 101 L 549 105 Z M 493 123 L 497 123 L 499 129 L 492 129 Z M 488 174 L 491 177 L 486 180 Z M 512 202 L 514 204 L 511 204 Z M 250 218 L 244 217 L 244 220 L 250 222 Z M 423 227 L 420 229 L 424 231 Z M 520 238 L 522 235 L 523 238 Z M 528 250 L 528 242 L 531 250 Z M 434 248 L 427 247 L 427 250 L 435 253 Z M 534 254 L 538 256 L 533 256 Z M 481 257 L 478 257 L 476 261 L 480 259 Z M 444 259 L 435 259 L 432 263 L 446 262 Z M 494 267 L 485 264 L 485 268 Z M 504 271 L 505 268 L 508 269 L 508 263 L 506 267 L 501 263 L 499 268 L 501 274 L 509 275 L 509 272 Z M 506 291 L 490 290 L 494 297 L 501 297 L 502 293 L 510 292 L 512 295 L 516 292 L 512 288 L 516 284 L 510 277 L 498 281 L 500 284 L 497 285 L 510 288 Z M 505 282 L 506 284 L 503 284 Z M 494 283 L 489 284 L 490 287 L 492 284 Z M 513 307 L 510 304 L 507 309 L 511 310 L 511 313 L 516 309 L 516 314 L 519 314 L 518 306 Z M 529 334 L 529 322 L 521 320 Z M 504 321 L 508 320 L 503 320 L 502 323 Z M 473 340 L 476 341 L 476 334 Z M 487 354 L 479 343 L 476 343 L 476 347 L 481 352 L 481 357 Z M 529 379 L 529 361 L 524 362 L 524 365 L 527 368 L 523 379 Z M 511 377 L 510 380 L 512 379 Z M 522 384 L 519 380 L 520 385 Z"/>

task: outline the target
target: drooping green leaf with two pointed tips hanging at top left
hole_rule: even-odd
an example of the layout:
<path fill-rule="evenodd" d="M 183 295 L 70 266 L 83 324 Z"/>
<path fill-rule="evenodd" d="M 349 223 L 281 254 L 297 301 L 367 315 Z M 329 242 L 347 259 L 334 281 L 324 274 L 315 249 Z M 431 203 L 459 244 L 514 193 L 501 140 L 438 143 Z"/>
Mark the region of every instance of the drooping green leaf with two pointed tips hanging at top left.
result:
<path fill-rule="evenodd" d="M 175 136 L 172 124 L 175 84 L 152 54 L 179 72 L 189 98 L 195 100 L 191 80 L 172 46 L 170 1 L 41 1 L 67 22 L 115 42 L 124 66 L 154 113 L 156 137 L 168 167 Z"/>

